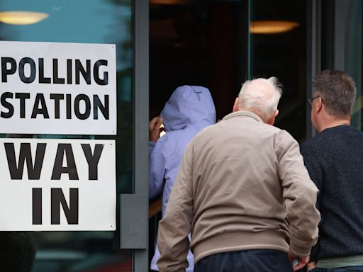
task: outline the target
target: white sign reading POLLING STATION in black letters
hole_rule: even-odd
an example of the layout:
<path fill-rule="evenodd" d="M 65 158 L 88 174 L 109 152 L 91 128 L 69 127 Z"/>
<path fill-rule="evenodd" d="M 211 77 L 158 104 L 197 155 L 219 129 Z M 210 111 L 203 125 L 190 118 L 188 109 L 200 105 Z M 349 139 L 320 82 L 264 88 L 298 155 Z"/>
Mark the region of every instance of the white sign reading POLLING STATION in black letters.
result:
<path fill-rule="evenodd" d="M 115 45 L 0 41 L 0 133 L 116 135 Z"/>

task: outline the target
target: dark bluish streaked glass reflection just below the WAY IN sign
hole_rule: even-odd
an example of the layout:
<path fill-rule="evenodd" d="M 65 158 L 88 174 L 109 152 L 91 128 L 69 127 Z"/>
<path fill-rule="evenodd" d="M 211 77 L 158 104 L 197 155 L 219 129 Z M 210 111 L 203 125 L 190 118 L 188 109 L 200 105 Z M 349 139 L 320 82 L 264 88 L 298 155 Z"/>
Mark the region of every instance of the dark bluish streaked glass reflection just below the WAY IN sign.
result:
<path fill-rule="evenodd" d="M 34 232 L 34 272 L 132 271 L 128 250 L 112 249 L 109 232 Z"/>

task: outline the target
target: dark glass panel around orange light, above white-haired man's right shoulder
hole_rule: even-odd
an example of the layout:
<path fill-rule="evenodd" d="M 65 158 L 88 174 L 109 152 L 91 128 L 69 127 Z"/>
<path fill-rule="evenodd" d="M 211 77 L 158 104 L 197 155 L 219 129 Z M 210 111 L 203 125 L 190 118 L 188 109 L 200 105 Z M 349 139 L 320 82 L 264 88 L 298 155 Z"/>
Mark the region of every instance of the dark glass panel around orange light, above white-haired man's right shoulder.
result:
<path fill-rule="evenodd" d="M 251 34 L 252 77 L 277 77 L 283 86 L 276 125 L 306 138 L 306 0 L 251 1 L 251 21 L 291 21 L 284 33 Z"/>

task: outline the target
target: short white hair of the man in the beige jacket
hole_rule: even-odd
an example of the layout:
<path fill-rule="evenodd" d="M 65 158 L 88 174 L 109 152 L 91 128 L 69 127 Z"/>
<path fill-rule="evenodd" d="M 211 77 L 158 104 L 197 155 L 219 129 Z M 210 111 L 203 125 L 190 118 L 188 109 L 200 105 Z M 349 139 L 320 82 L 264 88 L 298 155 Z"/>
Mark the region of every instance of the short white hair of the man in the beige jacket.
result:
<path fill-rule="evenodd" d="M 267 122 L 277 109 L 281 95 L 281 84 L 276 77 L 248 80 L 238 95 L 239 107 L 257 113 Z"/>

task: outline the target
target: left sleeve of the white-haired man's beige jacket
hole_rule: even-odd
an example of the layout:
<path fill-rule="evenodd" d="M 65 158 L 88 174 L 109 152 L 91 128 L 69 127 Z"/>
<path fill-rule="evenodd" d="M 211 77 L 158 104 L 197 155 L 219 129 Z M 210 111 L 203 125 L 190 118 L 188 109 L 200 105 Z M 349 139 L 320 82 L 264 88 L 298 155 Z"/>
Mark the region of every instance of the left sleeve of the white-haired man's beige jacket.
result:
<path fill-rule="evenodd" d="M 184 272 L 188 267 L 186 256 L 189 251 L 188 234 L 193 219 L 193 186 L 191 144 L 181 159 L 177 179 L 169 197 L 165 217 L 159 223 L 157 236 L 160 272 Z"/>

